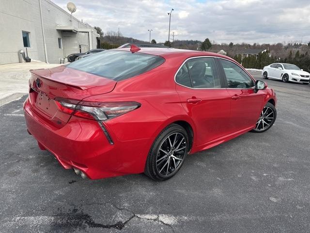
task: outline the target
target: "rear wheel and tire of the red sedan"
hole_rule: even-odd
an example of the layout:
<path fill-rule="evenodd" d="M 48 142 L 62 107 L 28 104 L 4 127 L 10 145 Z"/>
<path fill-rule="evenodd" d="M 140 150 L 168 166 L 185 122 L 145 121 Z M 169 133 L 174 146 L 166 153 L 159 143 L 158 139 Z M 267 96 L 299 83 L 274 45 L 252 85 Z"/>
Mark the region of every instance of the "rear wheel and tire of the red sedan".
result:
<path fill-rule="evenodd" d="M 155 181 L 170 179 L 183 165 L 188 145 L 188 135 L 182 126 L 167 126 L 159 133 L 151 147 L 144 173 Z"/>

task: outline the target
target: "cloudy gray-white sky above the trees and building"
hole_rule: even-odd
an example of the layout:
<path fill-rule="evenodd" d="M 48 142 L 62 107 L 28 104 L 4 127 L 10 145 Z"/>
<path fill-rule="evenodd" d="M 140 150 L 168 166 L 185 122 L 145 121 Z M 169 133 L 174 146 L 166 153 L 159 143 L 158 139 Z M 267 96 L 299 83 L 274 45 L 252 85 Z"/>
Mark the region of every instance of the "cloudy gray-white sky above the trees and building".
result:
<path fill-rule="evenodd" d="M 66 9 L 68 0 L 52 0 Z M 71 0 L 74 16 L 104 32 L 149 40 L 179 40 L 217 43 L 278 43 L 310 41 L 309 0 Z"/>

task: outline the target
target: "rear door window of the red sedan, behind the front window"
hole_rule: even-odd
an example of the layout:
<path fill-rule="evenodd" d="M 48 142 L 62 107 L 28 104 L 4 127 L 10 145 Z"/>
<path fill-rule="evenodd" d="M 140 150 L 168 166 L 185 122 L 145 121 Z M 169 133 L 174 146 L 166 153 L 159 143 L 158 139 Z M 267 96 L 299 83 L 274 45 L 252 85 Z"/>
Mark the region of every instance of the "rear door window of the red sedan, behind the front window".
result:
<path fill-rule="evenodd" d="M 214 58 L 202 57 L 188 60 L 193 88 L 220 88 L 220 80 Z"/>

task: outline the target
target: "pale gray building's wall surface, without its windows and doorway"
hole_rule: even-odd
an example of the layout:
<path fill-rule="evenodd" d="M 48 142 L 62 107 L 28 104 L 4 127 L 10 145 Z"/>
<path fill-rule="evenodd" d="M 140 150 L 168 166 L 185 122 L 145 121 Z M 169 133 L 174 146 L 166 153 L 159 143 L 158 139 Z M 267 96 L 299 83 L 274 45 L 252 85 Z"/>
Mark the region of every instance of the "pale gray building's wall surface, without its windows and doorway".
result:
<path fill-rule="evenodd" d="M 65 53 L 63 39 L 62 49 L 58 46 L 58 38 L 62 38 L 62 31 L 56 30 L 56 26 L 70 26 L 71 15 L 50 0 L 41 0 L 41 8 L 47 59 L 49 63 L 59 63 L 59 59 L 63 58 Z M 75 17 L 73 26 L 93 30 L 89 33 L 89 42 L 90 49 L 95 49 L 98 36 L 95 30 Z M 22 31 L 30 32 L 29 57 L 45 62 L 39 0 L 0 0 L 0 64 L 18 62 L 18 50 L 25 50 Z M 76 44 L 72 46 L 73 48 L 67 46 L 67 49 L 78 52 Z"/>

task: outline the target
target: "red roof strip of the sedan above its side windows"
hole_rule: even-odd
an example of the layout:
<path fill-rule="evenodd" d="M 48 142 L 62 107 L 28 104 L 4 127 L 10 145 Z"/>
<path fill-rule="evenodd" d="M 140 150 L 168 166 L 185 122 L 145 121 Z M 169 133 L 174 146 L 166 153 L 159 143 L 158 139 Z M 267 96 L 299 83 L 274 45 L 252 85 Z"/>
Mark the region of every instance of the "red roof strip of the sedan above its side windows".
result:
<path fill-rule="evenodd" d="M 123 51 L 130 51 L 130 48 L 124 49 L 113 49 L 113 50 L 123 50 Z M 221 55 L 214 52 L 205 52 L 205 51 L 195 51 L 195 50 L 181 50 L 181 49 L 173 49 L 173 48 L 140 48 L 138 51 L 140 53 L 147 53 L 152 55 L 157 55 L 161 57 L 171 57 L 171 56 L 185 56 L 185 57 L 195 57 L 195 56 L 215 56 L 215 57 L 222 57 L 225 59 L 232 60 L 232 58 Z"/>

